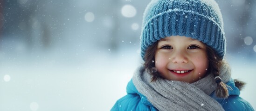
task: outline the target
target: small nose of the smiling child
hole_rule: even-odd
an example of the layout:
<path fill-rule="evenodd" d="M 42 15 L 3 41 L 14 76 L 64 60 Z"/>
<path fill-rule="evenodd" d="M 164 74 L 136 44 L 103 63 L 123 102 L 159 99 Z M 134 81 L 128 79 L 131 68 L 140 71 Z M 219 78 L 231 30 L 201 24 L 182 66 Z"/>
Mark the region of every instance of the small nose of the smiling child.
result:
<path fill-rule="evenodd" d="M 174 52 L 170 59 L 173 63 L 187 63 L 188 62 L 186 52 L 182 52 L 182 51 Z"/>

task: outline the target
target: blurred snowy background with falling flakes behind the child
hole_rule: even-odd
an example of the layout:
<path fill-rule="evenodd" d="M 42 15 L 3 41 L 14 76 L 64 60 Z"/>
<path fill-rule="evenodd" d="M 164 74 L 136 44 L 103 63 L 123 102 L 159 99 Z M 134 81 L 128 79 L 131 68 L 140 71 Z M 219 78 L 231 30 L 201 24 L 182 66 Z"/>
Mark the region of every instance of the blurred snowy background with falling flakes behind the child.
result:
<path fill-rule="evenodd" d="M 150 0 L 0 0 L 0 111 L 109 111 L 143 61 Z M 217 0 L 232 77 L 256 108 L 256 1 Z"/>

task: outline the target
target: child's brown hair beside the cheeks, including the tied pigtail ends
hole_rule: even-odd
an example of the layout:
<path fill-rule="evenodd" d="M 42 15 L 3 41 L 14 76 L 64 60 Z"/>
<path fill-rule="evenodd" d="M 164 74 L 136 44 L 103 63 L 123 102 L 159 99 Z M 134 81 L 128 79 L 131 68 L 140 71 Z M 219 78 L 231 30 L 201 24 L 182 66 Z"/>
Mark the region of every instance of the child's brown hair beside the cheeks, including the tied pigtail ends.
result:
<path fill-rule="evenodd" d="M 157 45 L 158 41 L 155 42 L 152 46 L 148 47 L 145 52 L 145 63 L 144 63 L 144 68 L 145 70 L 149 73 L 152 74 L 151 82 L 157 80 L 157 78 L 161 77 L 159 72 L 155 68 L 155 54 L 157 50 Z M 216 53 L 214 49 L 206 45 L 206 50 L 207 50 L 207 57 L 209 61 L 209 66 L 208 66 L 208 72 L 207 74 L 214 74 L 214 77 L 220 76 L 220 68 L 221 65 L 224 63 L 220 59 L 220 57 L 216 56 Z M 240 90 L 244 86 L 244 82 L 235 80 L 235 86 L 237 86 Z M 228 87 L 224 82 L 218 82 L 217 83 L 217 88 L 215 90 L 215 94 L 219 98 L 228 98 Z"/>

